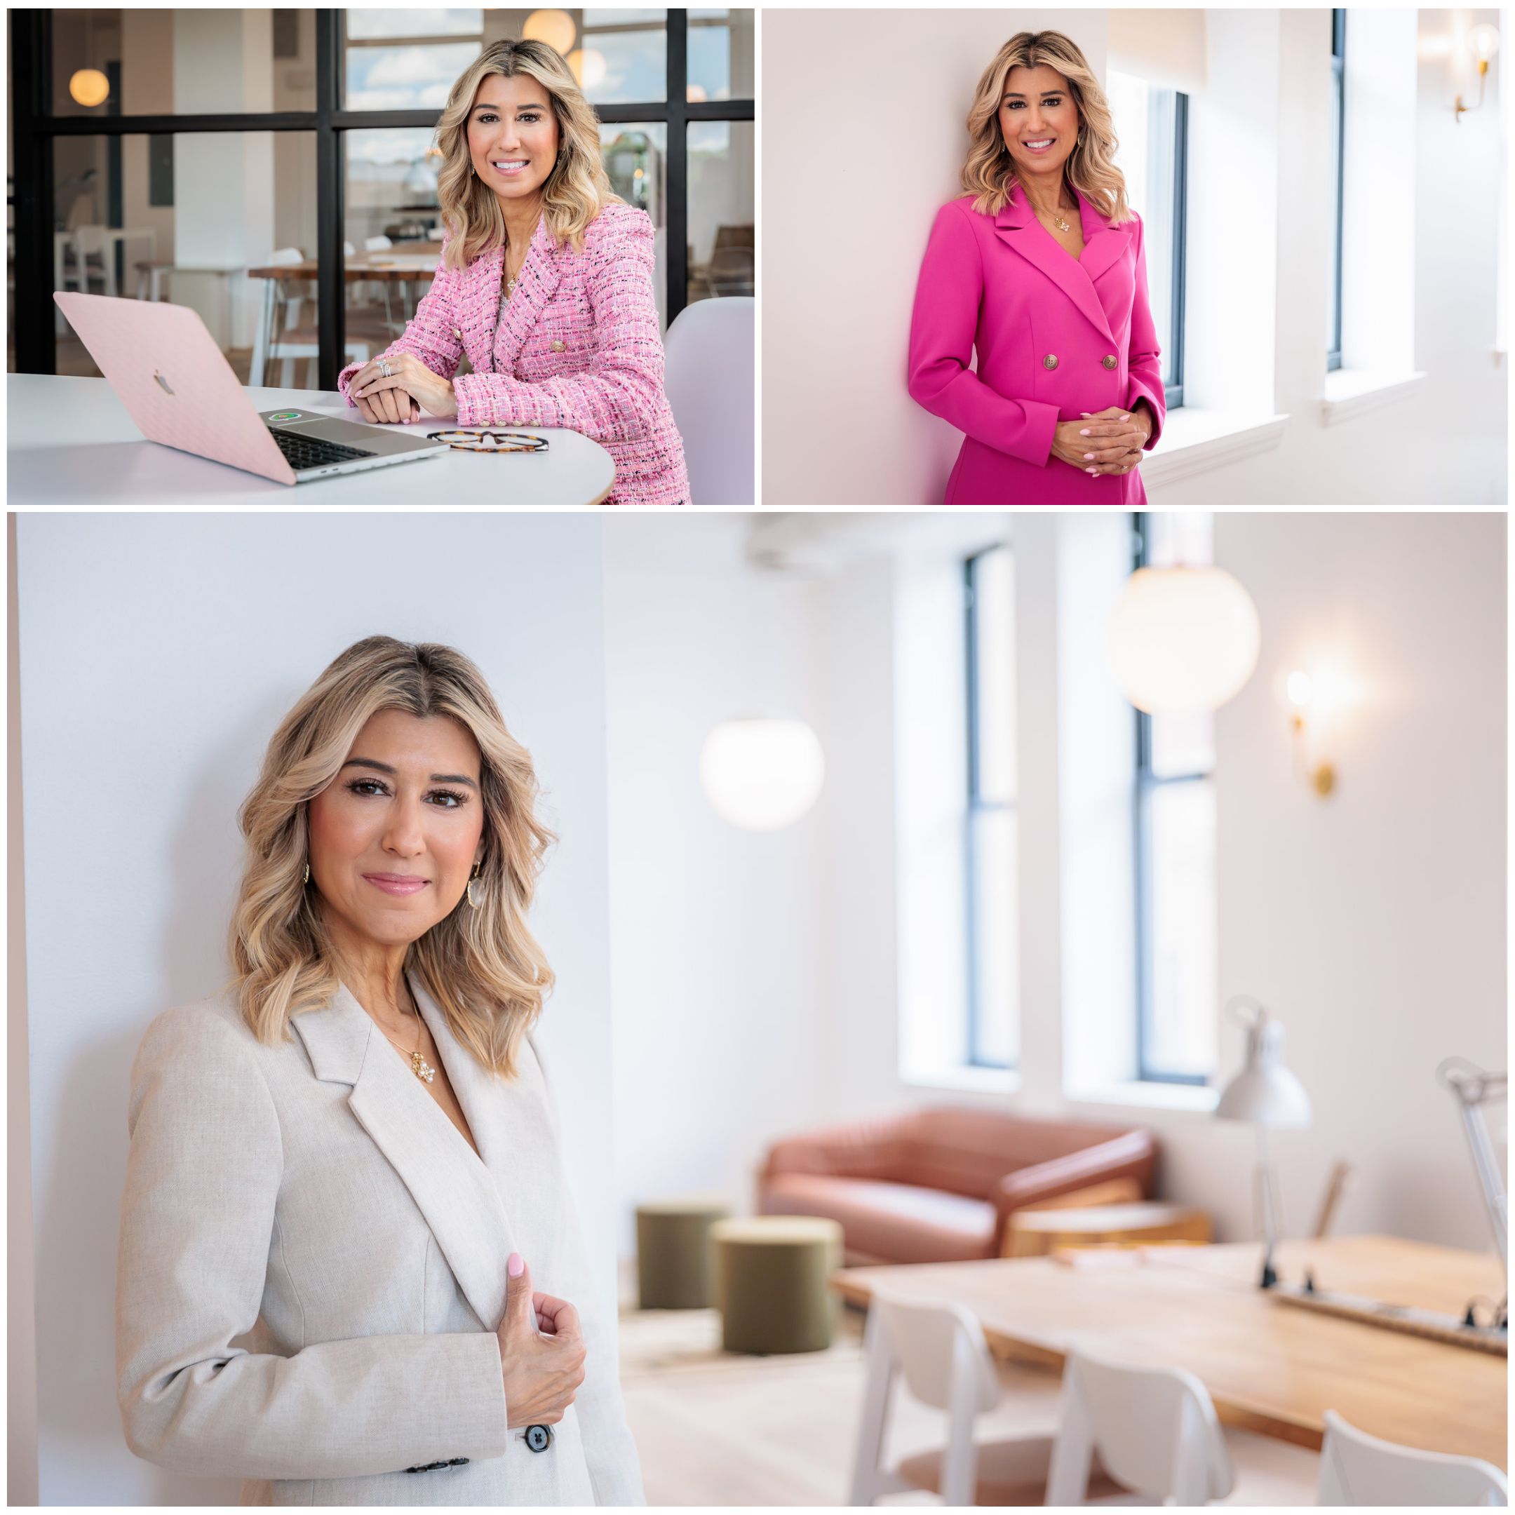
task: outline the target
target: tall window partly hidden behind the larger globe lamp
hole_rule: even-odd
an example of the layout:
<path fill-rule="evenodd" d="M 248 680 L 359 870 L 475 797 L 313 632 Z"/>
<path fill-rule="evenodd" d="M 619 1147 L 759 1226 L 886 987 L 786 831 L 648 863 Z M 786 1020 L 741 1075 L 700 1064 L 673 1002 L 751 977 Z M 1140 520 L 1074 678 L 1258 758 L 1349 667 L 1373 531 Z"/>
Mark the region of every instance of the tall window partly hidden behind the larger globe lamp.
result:
<path fill-rule="evenodd" d="M 1136 515 L 1135 568 L 1210 562 L 1210 517 Z M 1136 1077 L 1215 1071 L 1215 717 L 1136 711 Z"/>

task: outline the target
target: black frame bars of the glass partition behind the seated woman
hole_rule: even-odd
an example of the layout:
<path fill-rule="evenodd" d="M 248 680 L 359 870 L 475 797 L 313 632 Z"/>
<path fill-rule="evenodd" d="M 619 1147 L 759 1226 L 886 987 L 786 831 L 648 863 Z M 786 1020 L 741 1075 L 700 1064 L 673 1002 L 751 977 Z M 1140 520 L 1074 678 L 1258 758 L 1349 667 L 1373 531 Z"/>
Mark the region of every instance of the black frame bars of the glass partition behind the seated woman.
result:
<path fill-rule="evenodd" d="M 67 115 L 52 114 L 53 14 L 14 9 L 11 18 L 11 130 L 15 142 L 15 176 L 11 205 L 15 235 L 17 288 L 52 289 L 53 245 L 53 142 L 59 136 L 123 138 L 136 135 L 179 136 L 198 132 L 314 132 L 318 270 L 341 265 L 345 224 L 342 133 L 382 127 L 435 127 L 438 111 L 345 111 L 342 100 L 342 12 L 315 12 L 315 109 L 267 111 L 236 115 Z M 689 12 L 670 6 L 667 26 L 667 98 L 594 106 L 606 126 L 665 123 L 668 135 L 664 162 L 667 206 L 665 305 L 668 323 L 689 297 L 689 159 L 691 121 L 751 121 L 756 102 L 703 100 L 691 103 Z M 459 38 L 448 38 L 458 41 Z M 118 94 L 111 97 L 120 105 Z M 335 389 L 345 365 L 347 324 L 344 280 L 317 276 L 318 351 L 317 386 Z M 15 367 L 18 373 L 58 373 L 58 339 L 52 300 L 18 300 L 15 312 Z"/>

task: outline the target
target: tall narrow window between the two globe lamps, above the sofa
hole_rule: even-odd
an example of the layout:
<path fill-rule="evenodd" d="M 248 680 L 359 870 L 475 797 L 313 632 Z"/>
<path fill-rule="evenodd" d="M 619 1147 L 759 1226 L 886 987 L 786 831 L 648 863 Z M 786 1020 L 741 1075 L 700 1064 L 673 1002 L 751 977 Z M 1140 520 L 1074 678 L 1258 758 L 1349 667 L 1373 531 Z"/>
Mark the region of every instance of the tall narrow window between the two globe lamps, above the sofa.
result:
<path fill-rule="evenodd" d="M 964 564 L 968 804 L 964 835 L 968 1064 L 1020 1060 L 1015 845 L 1015 562 Z"/>

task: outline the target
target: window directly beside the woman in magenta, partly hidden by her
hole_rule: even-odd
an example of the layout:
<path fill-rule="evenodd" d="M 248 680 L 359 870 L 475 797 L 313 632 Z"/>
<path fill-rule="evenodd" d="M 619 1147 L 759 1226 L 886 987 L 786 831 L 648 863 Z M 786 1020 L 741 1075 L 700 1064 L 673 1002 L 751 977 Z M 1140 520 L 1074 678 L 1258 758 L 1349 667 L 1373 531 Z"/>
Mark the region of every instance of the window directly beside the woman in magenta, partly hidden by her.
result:
<path fill-rule="evenodd" d="M 1189 97 L 1110 70 L 1106 80 L 1126 198 L 1142 218 L 1147 292 L 1162 344 L 1162 388 L 1170 411 L 1183 405 L 1183 227 Z"/>

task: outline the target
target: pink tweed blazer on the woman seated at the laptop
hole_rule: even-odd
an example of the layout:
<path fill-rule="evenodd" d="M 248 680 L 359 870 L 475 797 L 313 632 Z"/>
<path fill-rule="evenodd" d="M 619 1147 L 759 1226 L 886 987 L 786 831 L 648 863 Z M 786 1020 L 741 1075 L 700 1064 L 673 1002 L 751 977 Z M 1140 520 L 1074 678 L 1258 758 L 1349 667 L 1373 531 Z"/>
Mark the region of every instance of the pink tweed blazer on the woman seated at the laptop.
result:
<path fill-rule="evenodd" d="M 415 318 L 382 356 L 414 353 L 456 379 L 459 426 L 564 426 L 615 462 L 606 504 L 688 504 L 683 441 L 664 394 L 664 350 L 653 303 L 653 223 L 608 203 L 583 251 L 554 247 L 538 221 L 515 294 L 500 320 L 504 250 L 467 268 L 436 270 Z M 350 364 L 336 385 L 348 405 Z"/>

